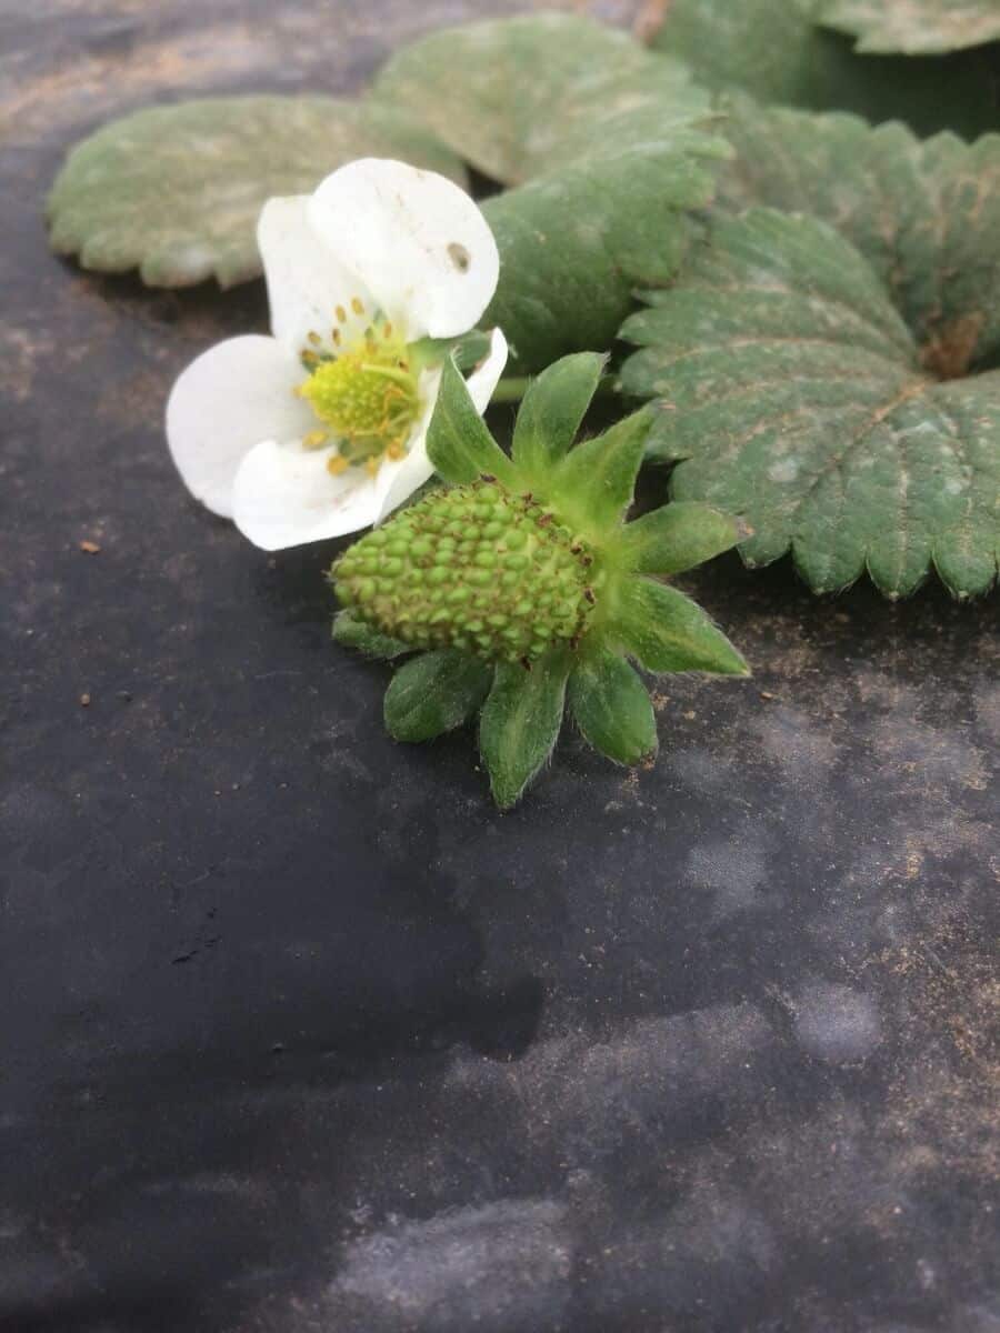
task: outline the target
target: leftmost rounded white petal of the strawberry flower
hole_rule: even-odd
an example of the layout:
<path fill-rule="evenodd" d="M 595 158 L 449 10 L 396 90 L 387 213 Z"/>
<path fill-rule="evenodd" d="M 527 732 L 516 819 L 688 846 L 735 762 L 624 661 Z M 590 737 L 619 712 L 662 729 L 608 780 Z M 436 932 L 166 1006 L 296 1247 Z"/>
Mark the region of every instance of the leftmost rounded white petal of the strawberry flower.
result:
<path fill-rule="evenodd" d="M 184 484 L 225 519 L 247 453 L 269 436 L 301 436 L 312 409 L 293 393 L 304 372 L 272 337 L 249 333 L 203 352 L 167 401 L 167 443 Z"/>

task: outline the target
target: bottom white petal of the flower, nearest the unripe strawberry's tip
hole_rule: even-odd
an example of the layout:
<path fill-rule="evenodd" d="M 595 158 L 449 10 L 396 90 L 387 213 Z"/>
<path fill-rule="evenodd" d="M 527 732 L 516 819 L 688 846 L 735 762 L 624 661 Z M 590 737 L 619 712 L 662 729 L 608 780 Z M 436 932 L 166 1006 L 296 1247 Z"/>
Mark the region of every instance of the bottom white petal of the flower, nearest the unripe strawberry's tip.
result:
<path fill-rule="evenodd" d="M 236 527 L 263 551 L 304 547 L 368 528 L 379 512 L 375 481 L 364 468 L 331 476 L 331 449 L 268 440 L 243 460 L 233 488 Z"/>

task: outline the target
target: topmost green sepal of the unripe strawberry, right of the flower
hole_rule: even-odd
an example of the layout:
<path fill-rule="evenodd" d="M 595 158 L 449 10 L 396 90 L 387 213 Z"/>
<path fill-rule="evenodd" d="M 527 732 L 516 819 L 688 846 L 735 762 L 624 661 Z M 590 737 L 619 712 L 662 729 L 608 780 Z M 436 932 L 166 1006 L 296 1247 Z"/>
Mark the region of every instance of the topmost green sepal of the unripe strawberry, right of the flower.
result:
<path fill-rule="evenodd" d="M 577 352 L 531 381 L 511 447 L 513 461 L 528 476 L 544 473 L 569 452 L 607 361 L 597 352 Z"/>

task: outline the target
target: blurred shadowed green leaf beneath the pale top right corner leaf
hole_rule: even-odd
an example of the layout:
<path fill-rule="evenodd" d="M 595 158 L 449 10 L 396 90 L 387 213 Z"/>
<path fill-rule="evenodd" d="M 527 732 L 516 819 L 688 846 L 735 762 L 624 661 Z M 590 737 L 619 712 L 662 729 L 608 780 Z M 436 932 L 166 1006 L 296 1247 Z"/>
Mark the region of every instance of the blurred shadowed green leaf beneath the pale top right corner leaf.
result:
<path fill-rule="evenodd" d="M 975 139 L 997 125 L 993 65 L 983 52 L 860 56 L 847 37 L 817 27 L 823 3 L 671 0 L 652 41 L 685 60 L 707 87 L 743 88 L 761 101 L 845 108 L 872 121 L 900 119 L 921 135 L 955 129 Z M 883 9 L 885 3 L 871 0 L 868 7 Z M 905 0 L 911 11 L 919 3 Z"/>

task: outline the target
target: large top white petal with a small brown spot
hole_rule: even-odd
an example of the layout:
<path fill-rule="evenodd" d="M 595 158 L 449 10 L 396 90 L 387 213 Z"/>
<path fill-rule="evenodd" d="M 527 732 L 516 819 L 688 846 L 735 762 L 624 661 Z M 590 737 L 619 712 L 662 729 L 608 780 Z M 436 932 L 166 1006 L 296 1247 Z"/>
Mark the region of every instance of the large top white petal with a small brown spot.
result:
<path fill-rule="evenodd" d="M 468 333 L 496 291 L 500 256 L 487 220 L 436 172 L 361 157 L 319 185 L 311 217 L 411 341 Z"/>

